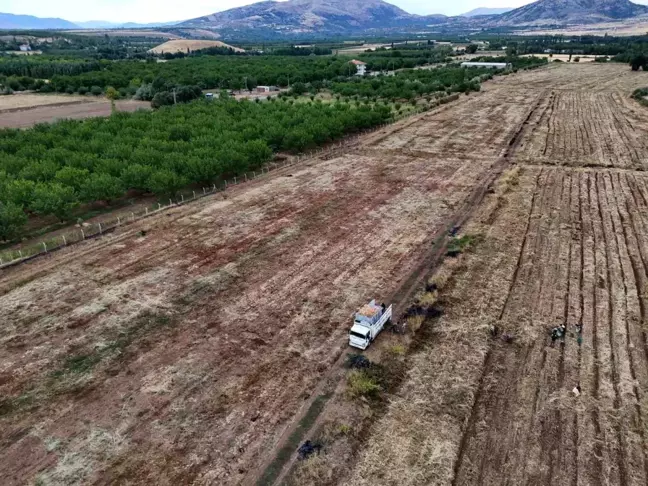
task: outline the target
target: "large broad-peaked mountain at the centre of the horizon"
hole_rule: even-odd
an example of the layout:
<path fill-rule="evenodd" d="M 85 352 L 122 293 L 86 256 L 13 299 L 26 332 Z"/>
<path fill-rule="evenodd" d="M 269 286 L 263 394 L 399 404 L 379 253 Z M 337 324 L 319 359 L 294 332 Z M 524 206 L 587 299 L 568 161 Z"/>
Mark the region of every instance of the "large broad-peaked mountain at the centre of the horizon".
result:
<path fill-rule="evenodd" d="M 344 33 L 446 20 L 442 15 L 413 15 L 382 0 L 264 1 L 188 20 L 182 27 L 229 30 L 271 30 L 285 34 Z"/>

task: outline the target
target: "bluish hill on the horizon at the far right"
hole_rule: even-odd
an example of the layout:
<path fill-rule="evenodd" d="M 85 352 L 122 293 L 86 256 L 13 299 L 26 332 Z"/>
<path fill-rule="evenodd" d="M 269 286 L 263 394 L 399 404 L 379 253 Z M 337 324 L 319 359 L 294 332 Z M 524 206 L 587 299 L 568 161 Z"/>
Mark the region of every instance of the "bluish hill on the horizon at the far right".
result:
<path fill-rule="evenodd" d="M 629 0 L 539 0 L 511 10 L 497 25 L 587 24 L 648 14 L 648 7 Z"/>

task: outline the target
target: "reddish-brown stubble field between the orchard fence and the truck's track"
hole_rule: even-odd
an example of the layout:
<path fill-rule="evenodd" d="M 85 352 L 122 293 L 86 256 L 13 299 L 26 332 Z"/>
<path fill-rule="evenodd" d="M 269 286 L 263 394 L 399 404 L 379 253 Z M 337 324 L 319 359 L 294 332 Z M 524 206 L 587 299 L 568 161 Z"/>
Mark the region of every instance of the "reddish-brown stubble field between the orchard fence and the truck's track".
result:
<path fill-rule="evenodd" d="M 381 144 L 428 124 L 449 140 L 464 120 L 502 145 L 539 97 L 509 99 L 510 85 L 475 95 L 478 122 L 465 98 L 4 271 L 5 483 L 254 482 L 345 351 L 352 312 L 394 298 L 506 149 Z M 493 130 L 504 115 L 510 126 Z"/>

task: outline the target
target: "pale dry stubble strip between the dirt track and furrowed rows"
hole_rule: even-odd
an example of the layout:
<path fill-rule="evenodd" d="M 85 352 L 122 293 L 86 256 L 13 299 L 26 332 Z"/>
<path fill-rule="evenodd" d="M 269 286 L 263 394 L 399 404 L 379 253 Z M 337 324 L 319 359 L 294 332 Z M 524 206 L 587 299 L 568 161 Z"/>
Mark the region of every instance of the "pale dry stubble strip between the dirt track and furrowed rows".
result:
<path fill-rule="evenodd" d="M 524 185 L 526 189 L 530 183 L 531 178 L 512 171 L 499 186 Z M 506 192 L 505 197 L 511 198 L 507 208 L 522 214 L 528 211 L 528 201 L 518 195 L 521 191 Z M 497 320 L 498 305 L 508 289 L 507 275 L 516 264 L 514 247 L 521 242 L 511 240 L 512 229 L 506 231 L 499 219 L 491 228 L 480 222 L 497 198 L 497 194 L 488 196 L 466 228 L 470 233 L 483 233 L 483 242 L 472 252 L 446 259 L 428 281 L 437 286 L 446 303 L 444 315 L 408 358 L 409 371 L 398 396 L 392 397 L 376 424 L 346 484 L 452 483 L 461 437 L 491 343 L 488 325 Z"/>

